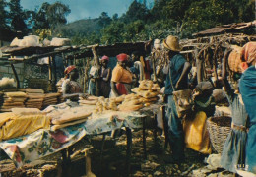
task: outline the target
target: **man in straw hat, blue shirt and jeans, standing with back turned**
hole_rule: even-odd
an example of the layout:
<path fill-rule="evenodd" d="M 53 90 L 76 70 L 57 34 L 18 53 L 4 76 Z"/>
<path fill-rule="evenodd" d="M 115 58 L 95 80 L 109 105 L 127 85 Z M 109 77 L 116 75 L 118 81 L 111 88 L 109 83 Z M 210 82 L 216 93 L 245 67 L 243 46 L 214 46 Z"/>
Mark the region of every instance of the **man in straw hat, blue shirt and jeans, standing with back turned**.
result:
<path fill-rule="evenodd" d="M 179 54 L 181 46 L 177 37 L 169 35 L 163 40 L 164 48 L 168 50 L 168 74 L 165 81 L 165 100 L 168 108 L 166 119 L 168 121 L 169 144 L 172 151 L 172 157 L 166 161 L 171 163 L 180 163 L 184 160 L 184 135 L 181 119 L 178 118 L 175 102 L 172 92 L 175 90 L 188 89 L 188 73 L 191 65 Z"/>

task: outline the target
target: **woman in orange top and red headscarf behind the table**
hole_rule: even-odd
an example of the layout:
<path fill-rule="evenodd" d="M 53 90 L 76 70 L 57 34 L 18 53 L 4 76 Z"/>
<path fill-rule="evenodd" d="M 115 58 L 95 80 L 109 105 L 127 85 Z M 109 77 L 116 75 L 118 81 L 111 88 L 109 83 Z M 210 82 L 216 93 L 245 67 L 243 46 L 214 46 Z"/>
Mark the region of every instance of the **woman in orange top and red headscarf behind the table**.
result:
<path fill-rule="evenodd" d="M 126 67 L 128 61 L 127 54 L 121 53 L 116 58 L 118 63 L 112 72 L 110 97 L 128 94 L 132 84 L 132 73 Z"/>

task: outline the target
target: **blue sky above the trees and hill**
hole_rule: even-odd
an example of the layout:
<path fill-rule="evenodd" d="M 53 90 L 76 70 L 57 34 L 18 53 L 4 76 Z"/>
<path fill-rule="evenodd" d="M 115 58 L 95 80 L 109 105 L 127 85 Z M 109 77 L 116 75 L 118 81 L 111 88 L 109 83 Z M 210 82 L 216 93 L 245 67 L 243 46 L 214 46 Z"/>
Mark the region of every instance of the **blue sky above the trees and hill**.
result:
<path fill-rule="evenodd" d="M 53 4 L 57 0 L 21 0 L 23 9 L 34 10 L 43 2 Z M 88 18 L 97 18 L 102 12 L 107 12 L 109 17 L 117 13 L 120 17 L 127 11 L 133 0 L 59 0 L 68 5 L 71 13 L 67 16 L 68 23 Z M 148 6 L 152 6 L 154 0 L 147 0 Z"/>

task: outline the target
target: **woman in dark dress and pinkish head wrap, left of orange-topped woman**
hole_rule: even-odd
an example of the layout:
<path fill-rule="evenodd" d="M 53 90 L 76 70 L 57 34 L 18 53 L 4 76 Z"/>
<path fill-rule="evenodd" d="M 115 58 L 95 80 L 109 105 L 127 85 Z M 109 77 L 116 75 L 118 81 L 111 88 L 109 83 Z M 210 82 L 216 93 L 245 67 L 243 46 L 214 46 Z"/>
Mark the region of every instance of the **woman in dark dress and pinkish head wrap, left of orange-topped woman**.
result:
<path fill-rule="evenodd" d="M 104 55 L 101 58 L 101 74 L 100 74 L 100 82 L 99 82 L 99 95 L 104 97 L 109 97 L 110 94 L 110 79 L 111 79 L 111 68 L 107 67 L 109 58 Z"/>

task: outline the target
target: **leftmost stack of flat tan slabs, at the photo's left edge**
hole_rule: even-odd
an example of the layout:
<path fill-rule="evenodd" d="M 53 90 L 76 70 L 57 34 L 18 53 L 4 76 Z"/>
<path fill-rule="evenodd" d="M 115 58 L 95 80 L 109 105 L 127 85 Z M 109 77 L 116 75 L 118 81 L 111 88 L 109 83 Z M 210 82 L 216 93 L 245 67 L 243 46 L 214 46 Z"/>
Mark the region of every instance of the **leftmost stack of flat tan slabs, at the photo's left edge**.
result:
<path fill-rule="evenodd" d="M 25 107 L 24 102 L 26 99 L 27 99 L 27 94 L 22 91 L 4 92 L 3 104 L 0 111 L 11 112 L 12 108 Z"/>

